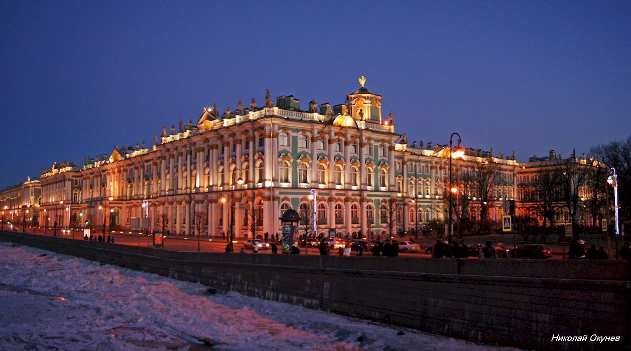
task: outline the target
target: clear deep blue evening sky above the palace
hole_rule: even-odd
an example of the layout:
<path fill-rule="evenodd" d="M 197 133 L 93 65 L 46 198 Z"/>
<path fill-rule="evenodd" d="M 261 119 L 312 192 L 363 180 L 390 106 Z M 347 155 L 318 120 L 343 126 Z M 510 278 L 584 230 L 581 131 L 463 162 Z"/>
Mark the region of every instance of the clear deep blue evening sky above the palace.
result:
<path fill-rule="evenodd" d="M 0 188 L 362 75 L 410 143 L 580 155 L 631 134 L 631 2 L 3 1 Z"/>

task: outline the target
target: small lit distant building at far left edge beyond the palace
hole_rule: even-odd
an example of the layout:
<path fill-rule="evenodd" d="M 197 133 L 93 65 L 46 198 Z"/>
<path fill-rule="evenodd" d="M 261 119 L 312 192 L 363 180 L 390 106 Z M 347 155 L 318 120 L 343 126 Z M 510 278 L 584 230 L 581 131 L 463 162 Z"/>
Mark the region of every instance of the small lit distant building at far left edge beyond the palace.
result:
<path fill-rule="evenodd" d="M 40 181 L 29 177 L 24 183 L 0 190 L 2 224 L 7 226 L 37 225 L 40 207 Z"/>

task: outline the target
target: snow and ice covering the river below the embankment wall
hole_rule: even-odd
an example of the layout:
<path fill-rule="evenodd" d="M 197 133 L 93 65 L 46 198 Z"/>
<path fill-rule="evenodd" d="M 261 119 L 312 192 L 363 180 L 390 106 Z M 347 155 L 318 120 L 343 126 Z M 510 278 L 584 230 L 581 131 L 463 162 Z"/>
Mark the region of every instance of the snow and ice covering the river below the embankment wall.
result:
<path fill-rule="evenodd" d="M 233 292 L 208 296 L 201 284 L 0 245 L 1 350 L 187 350 L 203 343 L 216 350 L 516 350 Z"/>

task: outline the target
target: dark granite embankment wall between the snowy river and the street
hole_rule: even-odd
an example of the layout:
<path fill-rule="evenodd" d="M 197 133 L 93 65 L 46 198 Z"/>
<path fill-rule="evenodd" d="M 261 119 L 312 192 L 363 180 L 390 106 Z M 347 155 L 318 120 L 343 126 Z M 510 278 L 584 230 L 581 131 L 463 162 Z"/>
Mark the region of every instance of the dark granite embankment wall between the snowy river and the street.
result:
<path fill-rule="evenodd" d="M 6 231 L 0 241 L 476 342 L 631 348 L 629 262 L 191 253 Z"/>

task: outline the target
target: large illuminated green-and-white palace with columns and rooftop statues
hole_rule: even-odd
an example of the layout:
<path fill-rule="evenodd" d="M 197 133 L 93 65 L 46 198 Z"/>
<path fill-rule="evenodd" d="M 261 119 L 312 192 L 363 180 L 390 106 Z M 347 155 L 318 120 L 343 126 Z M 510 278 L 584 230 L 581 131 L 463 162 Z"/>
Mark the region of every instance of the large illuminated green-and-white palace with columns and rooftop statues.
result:
<path fill-rule="evenodd" d="M 165 125 L 151 147 L 115 147 L 81 167 L 55 164 L 42 171 L 40 205 L 62 215 L 59 226 L 207 236 L 233 226 L 236 238 L 249 238 L 278 233 L 286 209 L 312 214 L 313 188 L 317 234 L 410 234 L 444 219 L 449 147 L 408 144 L 394 132 L 392 113 L 384 118 L 382 96 L 364 83 L 336 106 L 310 101 L 301 110 L 293 96 L 278 96 L 274 106 L 268 92 L 262 107 L 252 98 L 250 108 L 239 100 L 221 116 L 216 106 L 204 108 L 195 124 L 180 120 L 177 132 Z M 514 154 L 464 150 L 452 159 L 454 210 L 498 221 L 502 202 L 516 198 L 519 175 L 530 170 Z"/>

